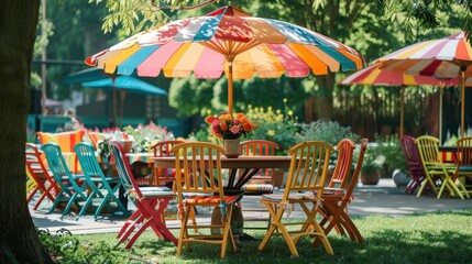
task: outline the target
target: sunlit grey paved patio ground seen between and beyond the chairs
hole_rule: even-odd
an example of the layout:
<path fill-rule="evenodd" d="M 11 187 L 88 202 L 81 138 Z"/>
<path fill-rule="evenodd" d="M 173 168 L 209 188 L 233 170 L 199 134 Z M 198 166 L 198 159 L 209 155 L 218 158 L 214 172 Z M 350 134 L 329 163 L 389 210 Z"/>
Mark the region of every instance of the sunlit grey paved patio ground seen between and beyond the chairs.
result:
<path fill-rule="evenodd" d="M 381 183 L 376 186 L 360 185 L 354 190 L 354 200 L 349 206 L 349 213 L 361 216 L 373 213 L 402 216 L 415 212 L 472 209 L 472 199 L 437 199 L 432 196 L 416 198 L 416 196 L 404 195 L 404 187 L 397 188 L 391 179 L 381 179 Z M 242 200 L 242 206 L 243 208 L 261 208 L 259 199 L 259 196 L 245 196 Z M 43 205 L 46 207 L 51 206 L 47 202 L 43 202 Z M 131 204 L 130 208 L 132 208 Z M 52 233 L 63 228 L 75 234 L 118 232 L 125 221 L 124 218 L 95 221 L 91 216 L 81 217 L 79 220 L 61 219 L 61 213 L 48 215 L 41 210 L 30 210 L 30 212 L 36 227 L 47 228 Z M 296 217 L 298 212 L 296 209 L 293 216 Z M 253 216 L 257 217 L 257 215 Z M 211 213 L 209 211 L 199 211 L 197 218 L 209 222 Z M 167 226 L 169 228 L 179 228 L 179 221 L 168 221 Z"/>

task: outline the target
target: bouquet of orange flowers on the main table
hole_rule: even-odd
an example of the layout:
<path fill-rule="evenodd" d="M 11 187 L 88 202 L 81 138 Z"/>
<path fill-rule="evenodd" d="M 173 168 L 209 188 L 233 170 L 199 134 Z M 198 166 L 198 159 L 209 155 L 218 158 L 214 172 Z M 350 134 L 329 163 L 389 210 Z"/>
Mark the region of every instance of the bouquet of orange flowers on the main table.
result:
<path fill-rule="evenodd" d="M 207 117 L 205 122 L 210 124 L 208 131 L 218 139 L 238 140 L 250 135 L 255 129 L 244 113 L 237 113 L 235 118 L 229 113 L 222 113 L 220 117 Z"/>

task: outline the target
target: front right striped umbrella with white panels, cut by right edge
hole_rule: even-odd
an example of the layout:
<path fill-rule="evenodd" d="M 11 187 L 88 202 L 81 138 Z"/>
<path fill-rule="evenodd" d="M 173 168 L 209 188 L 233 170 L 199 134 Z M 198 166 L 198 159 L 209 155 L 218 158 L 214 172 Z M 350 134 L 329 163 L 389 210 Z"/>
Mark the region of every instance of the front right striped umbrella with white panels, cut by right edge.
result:
<path fill-rule="evenodd" d="M 472 76 L 472 47 L 464 32 L 432 41 L 420 42 L 385 55 L 373 64 L 381 68 L 408 75 L 460 78 L 461 134 L 464 134 L 465 76 Z"/>

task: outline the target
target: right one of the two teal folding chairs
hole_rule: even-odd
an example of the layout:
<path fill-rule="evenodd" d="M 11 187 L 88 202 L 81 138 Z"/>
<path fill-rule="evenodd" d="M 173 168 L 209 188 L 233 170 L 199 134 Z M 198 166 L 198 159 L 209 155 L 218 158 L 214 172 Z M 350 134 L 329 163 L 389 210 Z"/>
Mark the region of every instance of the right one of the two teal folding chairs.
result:
<path fill-rule="evenodd" d="M 105 176 L 95 155 L 94 145 L 88 142 L 80 142 L 74 146 L 74 150 L 77 153 L 89 188 L 84 208 L 87 209 L 90 206 L 97 206 L 94 215 L 95 219 L 101 215 L 103 208 L 107 208 L 109 212 L 121 211 L 123 215 L 128 215 L 125 206 L 116 195 L 121 187 L 120 179 L 118 177 Z"/>

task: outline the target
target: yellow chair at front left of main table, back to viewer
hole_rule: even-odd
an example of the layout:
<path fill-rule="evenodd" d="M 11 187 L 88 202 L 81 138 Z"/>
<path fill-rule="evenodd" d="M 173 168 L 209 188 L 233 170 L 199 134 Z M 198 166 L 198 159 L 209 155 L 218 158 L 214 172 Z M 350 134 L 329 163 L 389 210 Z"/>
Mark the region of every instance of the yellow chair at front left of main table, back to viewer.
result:
<path fill-rule="evenodd" d="M 176 180 L 178 207 L 183 210 L 180 234 L 177 244 L 177 256 L 185 244 L 208 243 L 221 246 L 220 257 L 224 258 L 227 244 L 237 251 L 230 227 L 230 219 L 239 195 L 224 196 L 221 177 L 221 155 L 224 150 L 207 142 L 186 142 L 174 146 L 172 153 L 176 160 Z M 221 211 L 221 223 L 189 224 L 189 216 L 195 207 L 216 207 Z M 191 232 L 197 228 L 199 233 Z M 208 232 L 205 232 L 207 231 Z M 211 230 L 219 230 L 211 232 Z"/>

